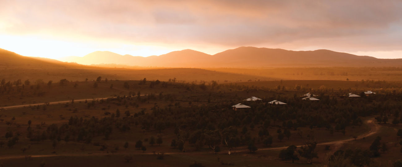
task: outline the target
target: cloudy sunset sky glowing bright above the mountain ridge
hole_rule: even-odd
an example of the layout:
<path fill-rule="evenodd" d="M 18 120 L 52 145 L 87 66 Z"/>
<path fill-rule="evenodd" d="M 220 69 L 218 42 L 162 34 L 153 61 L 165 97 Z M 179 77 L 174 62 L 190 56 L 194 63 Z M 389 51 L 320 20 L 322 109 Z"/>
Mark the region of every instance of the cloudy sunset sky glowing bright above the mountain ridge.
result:
<path fill-rule="evenodd" d="M 0 48 L 60 58 L 240 46 L 402 58 L 401 0 L 0 0 Z"/>

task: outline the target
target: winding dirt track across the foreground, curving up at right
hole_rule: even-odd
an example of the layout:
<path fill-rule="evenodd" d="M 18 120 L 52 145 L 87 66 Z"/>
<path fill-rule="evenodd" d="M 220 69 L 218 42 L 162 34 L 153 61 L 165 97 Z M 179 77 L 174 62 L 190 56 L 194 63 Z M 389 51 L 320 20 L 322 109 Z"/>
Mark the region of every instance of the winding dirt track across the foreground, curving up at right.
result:
<path fill-rule="evenodd" d="M 59 103 L 59 102 L 55 102 L 55 103 Z M 370 131 L 368 131 L 367 133 L 364 133 L 362 135 L 359 135 L 357 137 L 357 139 L 363 139 L 364 137 L 369 137 L 371 135 L 374 135 L 376 133 L 378 133 L 379 129 L 380 129 L 380 125 L 378 125 L 377 123 L 374 123 L 373 119 L 367 120 L 366 124 L 369 125 L 369 127 L 371 127 Z M 343 139 L 343 140 L 338 140 L 338 141 L 330 141 L 330 142 L 324 142 L 324 143 L 318 143 L 317 145 L 341 145 L 343 143 L 349 142 L 355 140 L 354 138 L 350 138 L 350 139 Z M 297 145 L 297 147 L 300 147 L 303 145 Z M 258 151 L 261 150 L 278 150 L 278 149 L 286 149 L 288 146 L 283 146 L 283 147 L 271 147 L 271 148 L 262 148 L 262 149 L 258 149 Z M 248 149 L 239 149 L 239 150 L 232 150 L 232 153 L 239 153 L 239 152 L 246 152 L 248 151 Z M 205 152 L 204 152 L 205 153 Z M 132 153 L 115 153 L 116 155 L 153 155 L 154 153 L 140 153 L 140 152 L 132 152 Z M 166 155 L 174 155 L 174 154 L 185 154 L 182 152 L 169 152 L 169 153 L 165 153 Z M 199 154 L 199 153 L 198 153 Z M 209 153 L 205 153 L 205 154 L 209 154 Z M 221 152 L 221 154 L 226 154 L 224 152 Z M 75 157 L 84 157 L 84 156 L 100 156 L 100 155 L 110 155 L 110 153 L 105 153 L 105 152 L 98 152 L 98 153 L 90 153 L 90 154 L 82 154 L 82 153 L 78 153 L 78 154 L 53 154 L 53 155 L 31 155 L 31 157 L 56 157 L 56 156 L 75 156 Z M 1 159 L 23 159 L 25 158 L 26 155 L 4 155 L 4 156 L 0 156 L 0 160 Z"/>

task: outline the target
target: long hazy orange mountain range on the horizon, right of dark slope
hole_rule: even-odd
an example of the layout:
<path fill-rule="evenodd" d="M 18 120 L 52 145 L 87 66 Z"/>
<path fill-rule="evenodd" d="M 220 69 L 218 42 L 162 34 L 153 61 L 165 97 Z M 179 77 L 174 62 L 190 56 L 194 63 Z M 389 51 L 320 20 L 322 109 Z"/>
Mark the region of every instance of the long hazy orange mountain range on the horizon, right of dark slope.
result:
<path fill-rule="evenodd" d="M 84 57 L 59 59 L 79 64 L 123 64 L 157 67 L 236 67 L 264 68 L 275 66 L 400 66 L 402 59 L 379 59 L 371 56 L 331 50 L 293 51 L 242 46 L 214 55 L 195 50 L 180 50 L 160 56 L 120 55 L 108 51 L 92 52 Z"/>

